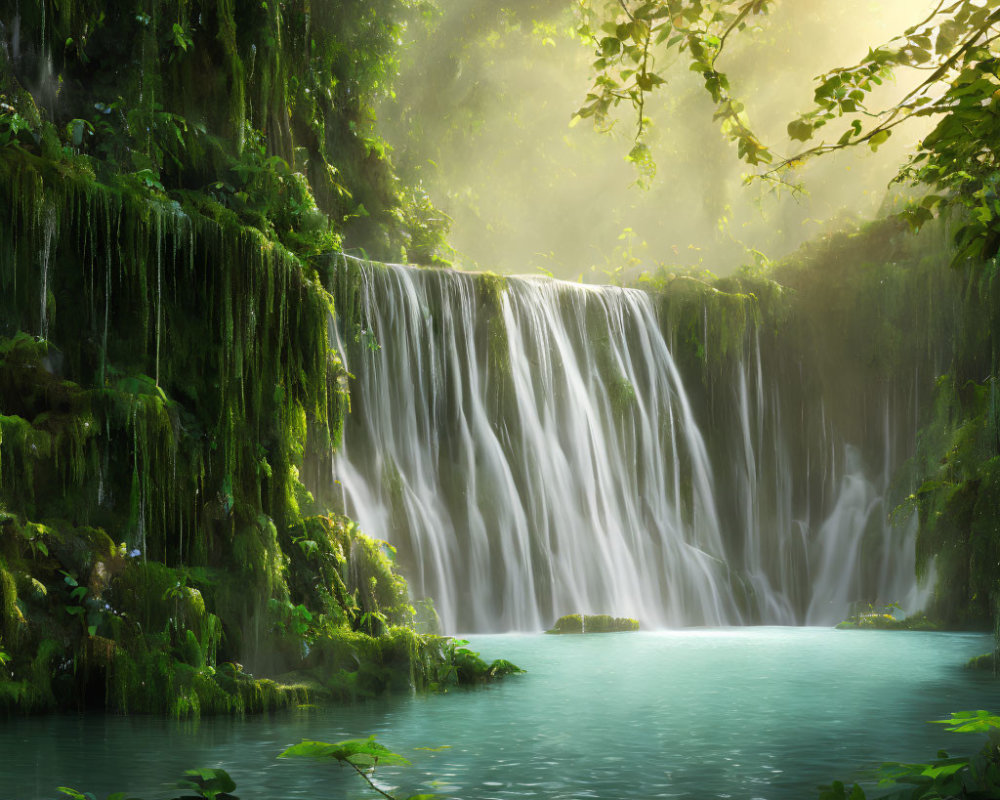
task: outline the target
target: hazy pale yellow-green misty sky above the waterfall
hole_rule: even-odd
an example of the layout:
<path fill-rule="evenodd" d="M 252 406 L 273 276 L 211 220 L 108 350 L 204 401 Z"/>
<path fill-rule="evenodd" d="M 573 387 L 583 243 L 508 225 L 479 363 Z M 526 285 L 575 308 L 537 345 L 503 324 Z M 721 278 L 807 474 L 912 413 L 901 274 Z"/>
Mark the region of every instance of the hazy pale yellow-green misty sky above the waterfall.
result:
<path fill-rule="evenodd" d="M 590 87 L 588 47 L 573 36 L 570 4 L 440 0 L 431 25 L 411 25 L 396 99 L 383 133 L 407 180 L 420 180 L 453 219 L 458 262 L 501 272 L 551 270 L 605 281 L 626 263 L 701 266 L 724 274 L 750 250 L 780 257 L 843 220 L 874 216 L 886 185 L 919 138 L 897 130 L 872 154 L 824 157 L 801 170 L 806 197 L 744 186 L 748 167 L 712 122 L 700 76 L 678 62 L 652 95 L 648 188 L 624 160 L 632 117 L 610 134 L 571 126 Z M 785 126 L 808 107 L 811 78 L 853 63 L 919 21 L 923 0 L 779 3 L 724 57 L 751 122 L 777 152 L 794 148 Z M 663 65 L 660 67 L 663 69 Z M 910 75 L 886 92 L 898 92 Z M 836 131 L 836 133 L 833 133 Z M 829 138 L 839 136 L 831 130 Z"/>

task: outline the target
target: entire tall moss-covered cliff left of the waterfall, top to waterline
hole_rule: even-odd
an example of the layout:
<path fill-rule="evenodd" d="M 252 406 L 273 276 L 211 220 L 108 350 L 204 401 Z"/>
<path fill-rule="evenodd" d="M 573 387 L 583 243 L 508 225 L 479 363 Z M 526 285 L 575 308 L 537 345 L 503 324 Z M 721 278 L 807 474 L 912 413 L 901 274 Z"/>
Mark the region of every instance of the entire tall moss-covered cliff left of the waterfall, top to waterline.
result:
<path fill-rule="evenodd" d="M 304 484 L 348 408 L 313 257 L 436 243 L 372 129 L 404 5 L 0 16 L 0 708 L 457 680 Z"/>

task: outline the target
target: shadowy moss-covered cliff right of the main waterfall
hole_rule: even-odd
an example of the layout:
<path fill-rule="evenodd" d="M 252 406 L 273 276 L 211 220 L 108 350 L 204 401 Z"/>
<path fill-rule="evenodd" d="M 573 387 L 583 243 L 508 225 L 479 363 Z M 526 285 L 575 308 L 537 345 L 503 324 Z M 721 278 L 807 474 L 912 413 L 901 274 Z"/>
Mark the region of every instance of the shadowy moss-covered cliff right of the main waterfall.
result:
<path fill-rule="evenodd" d="M 722 279 L 662 271 L 642 285 L 658 301 L 705 435 L 731 552 L 744 546 L 748 470 L 758 480 L 751 513 L 767 519 L 780 498 L 760 476 L 810 465 L 781 500 L 791 503 L 793 519 L 808 524 L 828 513 L 825 482 L 844 468 L 831 442 L 850 442 L 868 474 L 898 467 L 885 498 L 887 510 L 902 504 L 892 521 L 920 512 L 918 577 L 933 562 L 939 585 L 928 611 L 950 625 L 982 626 L 1000 571 L 985 566 L 992 531 L 973 539 L 970 525 L 976 508 L 987 518 L 985 503 L 977 505 L 985 485 L 980 468 L 998 452 L 989 376 L 1000 295 L 995 265 L 960 274 L 948 269 L 950 261 L 946 223 L 915 237 L 887 219 L 811 242 L 765 270 Z M 753 450 L 749 462 L 732 457 L 744 437 Z M 780 442 L 780 450 L 770 442 Z M 872 514 L 860 532 L 864 602 L 885 600 L 873 566 L 884 558 L 883 522 Z M 800 557 L 769 554 L 767 540 L 761 544 L 771 568 Z M 805 581 L 793 585 L 793 607 L 806 607 L 807 593 Z"/>

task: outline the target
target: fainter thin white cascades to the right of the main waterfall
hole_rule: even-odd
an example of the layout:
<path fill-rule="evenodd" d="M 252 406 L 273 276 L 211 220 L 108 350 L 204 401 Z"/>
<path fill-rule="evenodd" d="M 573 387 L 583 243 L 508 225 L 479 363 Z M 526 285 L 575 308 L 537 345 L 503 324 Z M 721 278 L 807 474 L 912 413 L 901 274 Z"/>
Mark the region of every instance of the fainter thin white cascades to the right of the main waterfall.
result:
<path fill-rule="evenodd" d="M 882 452 L 873 469 L 858 443 L 837 435 L 822 401 L 811 406 L 799 397 L 783 417 L 781 387 L 768 381 L 760 355 L 754 336 L 733 390 L 740 435 L 730 448 L 739 466 L 724 489 L 740 509 L 734 529 L 742 558 L 730 555 L 729 563 L 750 589 L 755 619 L 830 625 L 867 597 L 922 608 L 932 582 L 921 588 L 915 580 L 916 518 L 901 527 L 889 520 L 886 497 L 900 459 L 888 400 L 876 431 L 881 441 L 869 443 Z"/>

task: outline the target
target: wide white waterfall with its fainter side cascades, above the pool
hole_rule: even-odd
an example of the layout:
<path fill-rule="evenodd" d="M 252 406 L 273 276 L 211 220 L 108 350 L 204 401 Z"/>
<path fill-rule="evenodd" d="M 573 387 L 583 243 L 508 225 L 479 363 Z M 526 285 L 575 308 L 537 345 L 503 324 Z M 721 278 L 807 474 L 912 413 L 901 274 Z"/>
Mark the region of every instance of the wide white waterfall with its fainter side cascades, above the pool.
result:
<path fill-rule="evenodd" d="M 912 531 L 886 521 L 890 465 L 869 475 L 828 425 L 807 452 L 821 463 L 799 463 L 753 337 L 731 423 L 709 430 L 645 292 L 337 269 L 359 286 L 336 331 L 354 379 L 334 479 L 446 631 L 577 611 L 829 624 L 866 592 L 916 601 Z"/>

